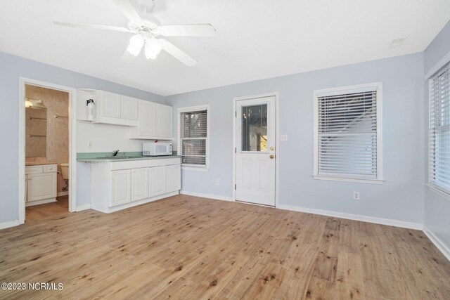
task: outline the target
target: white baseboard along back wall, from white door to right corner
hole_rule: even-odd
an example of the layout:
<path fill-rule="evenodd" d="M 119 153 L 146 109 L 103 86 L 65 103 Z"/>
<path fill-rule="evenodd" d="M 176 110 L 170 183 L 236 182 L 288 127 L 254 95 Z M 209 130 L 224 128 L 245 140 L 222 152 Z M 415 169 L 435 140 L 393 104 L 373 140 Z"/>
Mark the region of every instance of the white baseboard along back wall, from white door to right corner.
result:
<path fill-rule="evenodd" d="M 416 229 L 416 230 L 422 230 L 423 224 L 420 223 L 412 223 L 412 222 L 405 222 L 405 221 L 398 221 L 398 220 L 392 220 L 392 219 L 383 219 L 383 218 L 376 218 L 374 216 L 362 216 L 360 214 L 345 214 L 338 211 L 326 211 L 322 209 L 309 209 L 306 207 L 295 207 L 292 205 L 285 205 L 285 204 L 279 204 L 278 209 L 286 209 L 290 211 L 301 211 L 306 212 L 309 214 L 320 214 L 322 216 L 333 216 L 335 218 L 341 218 L 341 219 L 349 219 L 354 221 L 363 221 L 368 223 L 375 223 L 375 224 L 382 224 L 382 225 L 389 225 L 389 226 L 396 226 L 401 228 L 409 228 L 409 229 Z"/>

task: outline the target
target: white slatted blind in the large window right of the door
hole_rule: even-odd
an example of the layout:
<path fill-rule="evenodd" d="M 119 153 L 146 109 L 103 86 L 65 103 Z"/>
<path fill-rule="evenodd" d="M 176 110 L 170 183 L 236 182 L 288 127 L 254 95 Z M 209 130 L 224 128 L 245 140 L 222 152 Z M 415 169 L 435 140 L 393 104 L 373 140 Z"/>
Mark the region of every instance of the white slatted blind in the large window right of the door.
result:
<path fill-rule="evenodd" d="M 318 97 L 318 175 L 377 178 L 377 91 Z"/>

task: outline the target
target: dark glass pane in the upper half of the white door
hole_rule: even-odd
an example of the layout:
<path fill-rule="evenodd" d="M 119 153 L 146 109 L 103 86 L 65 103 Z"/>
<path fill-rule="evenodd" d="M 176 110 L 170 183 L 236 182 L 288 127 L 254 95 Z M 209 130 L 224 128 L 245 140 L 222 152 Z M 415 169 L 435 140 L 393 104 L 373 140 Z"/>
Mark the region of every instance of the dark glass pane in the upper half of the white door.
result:
<path fill-rule="evenodd" d="M 242 151 L 267 151 L 267 104 L 242 107 Z"/>

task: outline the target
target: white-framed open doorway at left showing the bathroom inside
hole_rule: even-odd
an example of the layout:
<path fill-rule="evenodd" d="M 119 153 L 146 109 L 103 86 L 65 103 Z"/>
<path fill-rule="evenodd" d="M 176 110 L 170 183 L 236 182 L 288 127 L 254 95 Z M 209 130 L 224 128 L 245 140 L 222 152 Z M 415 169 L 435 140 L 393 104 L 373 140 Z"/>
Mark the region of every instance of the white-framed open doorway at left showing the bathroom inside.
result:
<path fill-rule="evenodd" d="M 75 91 L 20 78 L 20 223 L 76 210 Z"/>

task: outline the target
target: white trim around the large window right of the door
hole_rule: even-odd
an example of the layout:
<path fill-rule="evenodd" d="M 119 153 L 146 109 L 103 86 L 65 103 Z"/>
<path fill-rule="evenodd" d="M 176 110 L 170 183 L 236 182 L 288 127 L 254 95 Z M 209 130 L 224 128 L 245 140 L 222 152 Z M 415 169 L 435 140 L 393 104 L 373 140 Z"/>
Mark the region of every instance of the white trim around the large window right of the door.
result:
<path fill-rule="evenodd" d="M 366 179 L 366 178 L 355 178 L 342 176 L 320 176 L 319 175 L 319 97 L 339 95 L 344 93 L 356 93 L 363 91 L 373 91 L 377 92 L 377 178 L 376 179 Z M 330 180 L 330 181 L 348 181 L 348 182 L 358 182 L 358 183 L 374 183 L 381 184 L 384 183 L 383 180 L 383 83 L 374 82 L 371 84 L 358 84 L 354 86 L 342 86 L 332 89 L 321 89 L 314 91 L 314 149 L 313 149 L 313 163 L 314 163 L 314 173 L 313 178 L 319 180 Z"/>

